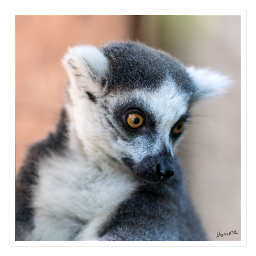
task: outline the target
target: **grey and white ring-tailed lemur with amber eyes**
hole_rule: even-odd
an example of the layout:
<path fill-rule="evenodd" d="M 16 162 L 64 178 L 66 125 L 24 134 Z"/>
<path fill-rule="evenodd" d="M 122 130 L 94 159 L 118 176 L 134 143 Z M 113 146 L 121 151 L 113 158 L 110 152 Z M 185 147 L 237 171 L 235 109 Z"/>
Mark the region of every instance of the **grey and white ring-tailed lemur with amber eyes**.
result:
<path fill-rule="evenodd" d="M 206 240 L 174 149 L 227 76 L 140 43 L 70 48 L 55 133 L 17 175 L 16 240 Z"/>

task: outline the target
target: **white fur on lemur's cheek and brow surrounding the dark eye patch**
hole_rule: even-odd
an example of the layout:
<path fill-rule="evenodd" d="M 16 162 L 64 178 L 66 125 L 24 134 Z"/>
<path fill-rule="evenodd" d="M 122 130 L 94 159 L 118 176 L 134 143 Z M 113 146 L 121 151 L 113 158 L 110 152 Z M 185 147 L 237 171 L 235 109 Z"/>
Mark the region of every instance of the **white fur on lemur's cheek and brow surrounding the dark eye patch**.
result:
<path fill-rule="evenodd" d="M 163 144 L 169 147 L 173 155 L 172 142 L 170 141 L 170 131 L 173 125 L 184 115 L 188 109 L 189 97 L 184 93 L 178 92 L 172 86 L 171 81 L 165 83 L 156 92 L 145 92 L 143 90 L 134 90 L 126 94 L 116 94 L 98 99 L 97 104 L 93 103 L 88 97 L 77 98 L 73 106 L 69 106 L 72 111 L 73 122 L 76 123 L 76 139 L 79 139 L 83 145 L 83 151 L 89 155 L 93 162 L 99 162 L 98 159 L 120 159 L 125 155 L 134 161 L 140 161 L 146 155 L 155 155 L 161 150 Z M 113 112 L 120 108 L 120 104 L 129 102 L 131 99 L 140 103 L 143 107 L 157 117 L 156 129 L 158 139 L 148 141 L 145 136 L 134 134 L 134 140 L 125 142 L 116 131 L 109 126 L 106 117 L 108 113 L 101 109 L 101 104 L 108 98 L 108 106 Z M 161 100 L 159 100 L 161 99 Z M 130 108 L 135 108 L 130 106 Z M 86 111 L 85 111 L 86 110 Z M 114 116 L 112 119 L 115 118 Z M 118 127 L 120 133 L 125 133 L 125 129 Z M 115 120 L 113 120 L 115 123 Z M 117 139 L 116 139 L 117 138 Z"/>

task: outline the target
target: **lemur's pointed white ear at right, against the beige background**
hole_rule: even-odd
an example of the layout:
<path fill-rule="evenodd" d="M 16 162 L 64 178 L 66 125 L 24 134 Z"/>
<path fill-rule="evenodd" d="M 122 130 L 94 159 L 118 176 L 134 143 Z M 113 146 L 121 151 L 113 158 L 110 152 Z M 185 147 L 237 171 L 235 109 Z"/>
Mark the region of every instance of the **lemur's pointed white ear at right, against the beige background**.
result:
<path fill-rule="evenodd" d="M 197 100 L 213 97 L 226 93 L 233 81 L 229 76 L 222 75 L 207 68 L 186 68 L 194 81 L 196 88 L 195 98 Z"/>

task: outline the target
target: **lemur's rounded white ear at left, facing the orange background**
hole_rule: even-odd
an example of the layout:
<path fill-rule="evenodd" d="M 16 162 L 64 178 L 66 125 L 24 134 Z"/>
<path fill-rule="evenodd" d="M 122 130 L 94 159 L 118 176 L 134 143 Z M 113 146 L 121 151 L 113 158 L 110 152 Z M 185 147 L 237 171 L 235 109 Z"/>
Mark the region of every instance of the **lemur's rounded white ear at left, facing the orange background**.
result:
<path fill-rule="evenodd" d="M 71 84 L 76 84 L 90 98 L 103 94 L 108 59 L 98 48 L 89 45 L 69 48 L 62 63 Z"/>

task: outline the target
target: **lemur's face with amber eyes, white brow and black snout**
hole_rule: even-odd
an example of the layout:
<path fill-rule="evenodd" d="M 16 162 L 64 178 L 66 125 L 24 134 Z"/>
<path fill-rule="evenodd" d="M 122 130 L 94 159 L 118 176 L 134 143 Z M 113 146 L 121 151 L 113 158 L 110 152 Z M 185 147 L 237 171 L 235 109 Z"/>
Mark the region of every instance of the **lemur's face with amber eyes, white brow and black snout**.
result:
<path fill-rule="evenodd" d="M 189 95 L 173 89 L 172 82 L 154 92 L 137 89 L 106 97 L 101 107 L 103 125 L 114 135 L 112 156 L 147 181 L 169 179 L 188 106 Z"/>

